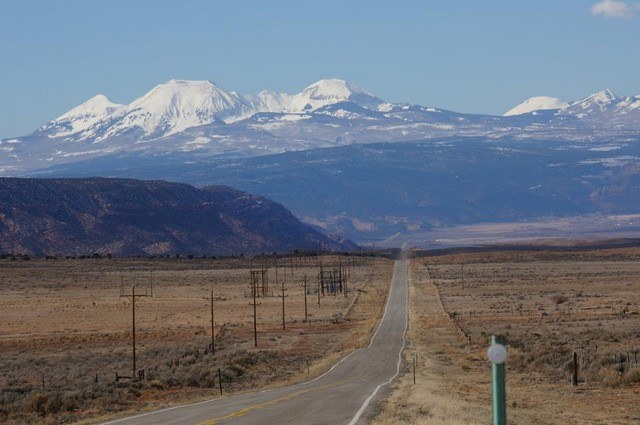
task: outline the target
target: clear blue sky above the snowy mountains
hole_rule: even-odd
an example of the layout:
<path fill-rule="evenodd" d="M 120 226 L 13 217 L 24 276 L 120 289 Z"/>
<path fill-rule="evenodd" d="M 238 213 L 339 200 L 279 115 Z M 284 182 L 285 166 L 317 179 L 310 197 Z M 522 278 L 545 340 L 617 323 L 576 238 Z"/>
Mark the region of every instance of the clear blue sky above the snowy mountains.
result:
<path fill-rule="evenodd" d="M 257 93 L 338 77 L 389 101 L 495 114 L 535 95 L 632 95 L 639 40 L 640 6 L 617 0 L 5 0 L 0 137 L 171 78 Z"/>

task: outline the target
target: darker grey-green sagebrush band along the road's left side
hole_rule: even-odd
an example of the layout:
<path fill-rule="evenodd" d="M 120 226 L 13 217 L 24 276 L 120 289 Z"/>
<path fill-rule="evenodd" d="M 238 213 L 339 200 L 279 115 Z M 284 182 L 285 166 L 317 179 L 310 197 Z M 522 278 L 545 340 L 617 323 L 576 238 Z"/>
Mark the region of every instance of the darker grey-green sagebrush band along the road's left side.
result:
<path fill-rule="evenodd" d="M 164 361 L 152 363 L 151 358 Z M 209 349 L 195 346 L 182 351 L 179 347 L 155 347 L 151 352 L 141 353 L 140 364 L 145 370 L 142 380 L 117 382 L 115 374 L 96 380 L 94 369 L 87 367 L 91 372 L 73 375 L 71 379 L 62 374 L 50 376 L 44 387 L 41 383 L 9 381 L 0 389 L 0 423 L 70 423 L 78 420 L 81 411 L 104 414 L 126 410 L 143 393 L 219 389 L 218 369 L 224 392 L 250 389 L 260 379 L 264 380 L 265 374 L 273 381 L 300 373 L 307 359 L 272 350 L 231 348 L 212 355 Z M 58 366 L 57 370 L 61 368 Z"/>

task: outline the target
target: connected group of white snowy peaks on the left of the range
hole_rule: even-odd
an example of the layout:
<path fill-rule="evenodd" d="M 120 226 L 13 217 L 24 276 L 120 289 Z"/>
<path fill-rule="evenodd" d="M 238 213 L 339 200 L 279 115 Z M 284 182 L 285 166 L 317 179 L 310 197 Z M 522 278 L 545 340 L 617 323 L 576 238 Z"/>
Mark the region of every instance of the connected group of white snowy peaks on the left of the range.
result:
<path fill-rule="evenodd" d="M 157 140 L 191 127 L 237 122 L 258 112 L 301 113 L 340 102 L 373 110 L 384 103 L 338 79 L 320 80 L 295 95 L 262 91 L 257 96 L 228 92 L 210 81 L 170 80 L 126 106 L 97 96 L 43 130 L 48 137 L 82 131 L 81 139 L 94 142 L 124 135 Z"/>

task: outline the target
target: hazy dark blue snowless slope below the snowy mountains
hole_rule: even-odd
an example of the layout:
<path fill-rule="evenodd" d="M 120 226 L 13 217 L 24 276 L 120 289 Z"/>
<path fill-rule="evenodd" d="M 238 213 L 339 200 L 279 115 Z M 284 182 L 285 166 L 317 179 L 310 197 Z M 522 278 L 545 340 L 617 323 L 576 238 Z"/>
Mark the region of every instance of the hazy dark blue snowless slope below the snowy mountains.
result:
<path fill-rule="evenodd" d="M 451 138 L 191 164 L 105 158 L 47 174 L 95 173 L 230 185 L 281 202 L 323 231 L 368 244 L 476 223 L 633 214 L 640 205 L 640 145 L 620 139 Z M 566 228 L 556 236 L 567 236 Z"/>

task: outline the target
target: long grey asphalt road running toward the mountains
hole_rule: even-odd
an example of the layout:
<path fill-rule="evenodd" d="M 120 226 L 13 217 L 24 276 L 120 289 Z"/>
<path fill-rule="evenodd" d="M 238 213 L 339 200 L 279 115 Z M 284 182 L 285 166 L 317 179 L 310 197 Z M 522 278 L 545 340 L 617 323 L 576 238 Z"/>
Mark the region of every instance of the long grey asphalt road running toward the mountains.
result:
<path fill-rule="evenodd" d="M 290 387 L 224 397 L 108 424 L 364 424 L 380 391 L 397 376 L 407 328 L 407 265 L 397 260 L 384 316 L 368 347 L 320 377 Z"/>

